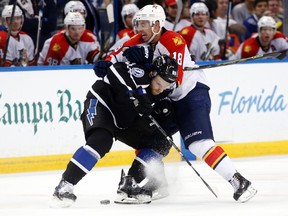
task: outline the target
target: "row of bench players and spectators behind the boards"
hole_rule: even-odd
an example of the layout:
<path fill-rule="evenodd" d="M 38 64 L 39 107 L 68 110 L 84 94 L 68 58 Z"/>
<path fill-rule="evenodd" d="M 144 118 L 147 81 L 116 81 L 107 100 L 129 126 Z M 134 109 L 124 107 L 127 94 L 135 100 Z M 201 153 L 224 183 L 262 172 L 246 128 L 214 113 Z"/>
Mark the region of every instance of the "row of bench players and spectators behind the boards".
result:
<path fill-rule="evenodd" d="M 165 28 L 181 34 L 196 62 L 247 58 L 288 48 L 283 0 L 183 0 L 181 15 L 176 0 L 75 2 L 2 0 L 0 65 L 95 63 L 137 33 L 133 16 L 154 3 L 165 9 Z M 106 15 L 111 4 L 116 15 L 112 28 Z"/>

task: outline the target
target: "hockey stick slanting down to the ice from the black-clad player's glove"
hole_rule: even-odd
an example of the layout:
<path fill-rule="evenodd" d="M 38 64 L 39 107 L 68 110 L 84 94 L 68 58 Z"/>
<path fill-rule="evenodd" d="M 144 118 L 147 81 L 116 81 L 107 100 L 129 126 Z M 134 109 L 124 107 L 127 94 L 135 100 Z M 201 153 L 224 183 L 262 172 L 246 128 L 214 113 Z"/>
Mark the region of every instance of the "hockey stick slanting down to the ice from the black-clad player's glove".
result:
<path fill-rule="evenodd" d="M 163 134 L 163 136 L 169 141 L 169 143 L 176 149 L 176 151 L 181 155 L 181 157 L 187 162 L 187 164 L 194 170 L 194 172 L 198 175 L 198 177 L 202 180 L 202 182 L 206 185 L 206 187 L 214 194 L 214 196 L 217 198 L 217 194 L 212 190 L 212 188 L 208 185 L 208 183 L 200 176 L 200 174 L 197 172 L 197 170 L 192 166 L 190 161 L 183 155 L 181 150 L 178 148 L 178 146 L 173 142 L 173 140 L 167 135 L 167 133 L 164 131 L 164 129 L 158 124 L 158 122 L 149 115 L 150 120 L 155 124 L 157 129 Z"/>

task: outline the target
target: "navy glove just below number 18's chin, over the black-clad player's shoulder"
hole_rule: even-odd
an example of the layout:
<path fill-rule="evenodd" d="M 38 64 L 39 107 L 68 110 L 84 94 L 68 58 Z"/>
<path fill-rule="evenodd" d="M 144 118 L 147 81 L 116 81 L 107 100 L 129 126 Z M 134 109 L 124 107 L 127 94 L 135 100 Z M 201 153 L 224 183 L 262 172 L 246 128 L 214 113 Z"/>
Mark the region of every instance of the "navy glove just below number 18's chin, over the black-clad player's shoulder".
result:
<path fill-rule="evenodd" d="M 150 46 L 132 46 L 123 52 L 123 56 L 131 63 L 150 66 L 153 61 L 153 50 Z"/>

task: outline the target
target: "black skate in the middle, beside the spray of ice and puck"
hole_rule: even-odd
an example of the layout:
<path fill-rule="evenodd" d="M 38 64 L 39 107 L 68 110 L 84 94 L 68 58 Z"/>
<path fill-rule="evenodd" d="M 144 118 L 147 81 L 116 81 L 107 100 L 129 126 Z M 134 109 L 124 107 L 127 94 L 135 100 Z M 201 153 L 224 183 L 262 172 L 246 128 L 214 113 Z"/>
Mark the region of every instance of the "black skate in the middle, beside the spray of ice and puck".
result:
<path fill-rule="evenodd" d="M 117 204 L 148 204 L 152 200 L 152 191 L 142 189 L 132 176 L 125 176 L 122 170 L 117 197 Z"/>

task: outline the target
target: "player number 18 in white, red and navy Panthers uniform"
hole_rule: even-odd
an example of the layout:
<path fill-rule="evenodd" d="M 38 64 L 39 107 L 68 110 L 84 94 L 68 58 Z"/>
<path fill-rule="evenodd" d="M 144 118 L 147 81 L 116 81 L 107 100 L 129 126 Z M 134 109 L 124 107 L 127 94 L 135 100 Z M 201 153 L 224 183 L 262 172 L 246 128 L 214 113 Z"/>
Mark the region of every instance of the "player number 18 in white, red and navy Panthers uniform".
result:
<path fill-rule="evenodd" d="M 145 46 L 151 46 L 154 57 L 166 54 L 178 63 L 178 87 L 169 95 L 175 109 L 176 124 L 185 147 L 221 175 L 234 189 L 233 198 L 246 202 L 257 192 L 250 181 L 234 167 L 221 146 L 216 146 L 210 121 L 211 101 L 209 87 L 203 70 L 191 60 L 185 40 L 178 33 L 163 28 L 165 12 L 160 5 L 146 5 L 135 16 L 139 34 L 124 43 L 123 47 L 107 60 L 131 61 L 142 64 Z M 185 67 L 195 70 L 185 71 Z M 138 160 L 141 163 L 140 160 Z M 141 185 L 141 182 L 137 182 Z M 143 183 L 143 182 L 142 182 Z"/>

